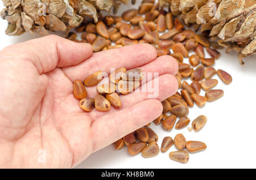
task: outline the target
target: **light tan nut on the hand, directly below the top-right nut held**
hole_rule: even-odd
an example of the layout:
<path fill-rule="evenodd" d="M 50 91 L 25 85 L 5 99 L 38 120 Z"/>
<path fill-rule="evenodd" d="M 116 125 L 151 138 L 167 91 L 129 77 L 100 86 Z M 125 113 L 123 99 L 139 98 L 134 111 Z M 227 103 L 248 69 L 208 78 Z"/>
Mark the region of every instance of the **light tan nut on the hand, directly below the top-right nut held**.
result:
<path fill-rule="evenodd" d="M 128 93 L 134 91 L 134 89 L 138 88 L 139 85 L 139 81 L 120 80 L 117 84 L 117 89 L 123 95 L 127 95 Z"/>

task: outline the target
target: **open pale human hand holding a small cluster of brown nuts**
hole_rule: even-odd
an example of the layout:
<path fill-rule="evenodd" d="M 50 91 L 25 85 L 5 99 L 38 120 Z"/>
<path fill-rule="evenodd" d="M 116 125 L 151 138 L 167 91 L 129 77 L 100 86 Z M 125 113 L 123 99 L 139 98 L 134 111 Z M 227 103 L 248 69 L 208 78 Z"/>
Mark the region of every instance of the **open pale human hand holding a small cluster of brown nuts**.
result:
<path fill-rule="evenodd" d="M 73 97 L 73 82 L 83 82 L 98 70 L 109 73 L 112 67 L 159 72 L 158 98 L 133 92 L 121 96 L 121 109 L 84 112 Z M 156 119 L 162 113 L 160 101 L 177 91 L 177 69 L 174 58 L 156 58 L 155 48 L 148 44 L 92 54 L 89 44 L 51 35 L 3 49 L 0 167 L 72 168 Z M 89 97 L 97 93 L 96 87 L 86 90 Z M 43 163 L 41 156 L 46 158 Z"/>

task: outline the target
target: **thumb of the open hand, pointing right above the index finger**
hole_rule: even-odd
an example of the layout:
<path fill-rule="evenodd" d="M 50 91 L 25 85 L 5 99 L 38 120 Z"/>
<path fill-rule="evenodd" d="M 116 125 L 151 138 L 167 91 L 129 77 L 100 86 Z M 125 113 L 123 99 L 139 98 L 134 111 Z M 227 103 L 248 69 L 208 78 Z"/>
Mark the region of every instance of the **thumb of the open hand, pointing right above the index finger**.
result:
<path fill-rule="evenodd" d="M 1 53 L 11 57 L 14 52 L 20 54 L 20 59 L 32 62 L 42 74 L 55 67 L 79 64 L 92 55 L 92 46 L 50 35 L 9 46 Z"/>

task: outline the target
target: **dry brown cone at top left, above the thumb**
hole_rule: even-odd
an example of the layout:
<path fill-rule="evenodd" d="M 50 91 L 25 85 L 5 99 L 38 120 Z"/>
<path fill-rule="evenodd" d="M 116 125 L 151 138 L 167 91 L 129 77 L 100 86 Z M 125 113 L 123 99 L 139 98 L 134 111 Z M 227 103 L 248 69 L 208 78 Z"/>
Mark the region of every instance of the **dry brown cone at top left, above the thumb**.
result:
<path fill-rule="evenodd" d="M 1 18 L 8 21 L 6 34 L 24 32 L 49 35 L 48 31 L 68 32 L 79 27 L 86 17 L 98 22 L 97 10 L 117 12 L 120 3 L 130 0 L 3 0 Z"/>

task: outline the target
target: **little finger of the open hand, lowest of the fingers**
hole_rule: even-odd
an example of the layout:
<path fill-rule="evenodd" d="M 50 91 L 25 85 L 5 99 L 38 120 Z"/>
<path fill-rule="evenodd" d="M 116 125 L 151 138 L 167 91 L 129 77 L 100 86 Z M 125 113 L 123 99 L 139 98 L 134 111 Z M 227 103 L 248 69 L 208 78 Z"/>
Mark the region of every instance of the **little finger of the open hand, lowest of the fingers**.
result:
<path fill-rule="evenodd" d="M 153 121 L 162 111 L 163 106 L 160 101 L 146 100 L 97 119 L 91 126 L 94 140 L 93 151 L 104 148 Z"/>

